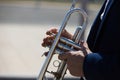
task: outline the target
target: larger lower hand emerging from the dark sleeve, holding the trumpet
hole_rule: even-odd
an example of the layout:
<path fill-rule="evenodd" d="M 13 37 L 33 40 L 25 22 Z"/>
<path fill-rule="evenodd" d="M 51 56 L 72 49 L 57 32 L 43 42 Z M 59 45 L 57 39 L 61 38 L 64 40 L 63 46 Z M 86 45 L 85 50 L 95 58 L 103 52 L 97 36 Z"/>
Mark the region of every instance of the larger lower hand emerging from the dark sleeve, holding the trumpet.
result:
<path fill-rule="evenodd" d="M 73 76 L 84 76 L 83 74 L 83 62 L 87 54 L 91 53 L 87 43 L 82 42 L 83 47 L 79 51 L 68 51 L 58 56 L 60 60 L 66 60 L 67 68 Z"/>

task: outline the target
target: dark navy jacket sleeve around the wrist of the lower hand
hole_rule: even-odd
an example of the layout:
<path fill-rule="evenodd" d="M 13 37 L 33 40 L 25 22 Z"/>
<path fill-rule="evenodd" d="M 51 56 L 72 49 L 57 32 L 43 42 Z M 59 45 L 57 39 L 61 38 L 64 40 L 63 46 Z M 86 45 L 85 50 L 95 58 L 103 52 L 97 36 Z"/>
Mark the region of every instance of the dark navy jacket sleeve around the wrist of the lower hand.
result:
<path fill-rule="evenodd" d="M 87 80 L 120 80 L 118 55 L 91 53 L 84 60 Z"/>

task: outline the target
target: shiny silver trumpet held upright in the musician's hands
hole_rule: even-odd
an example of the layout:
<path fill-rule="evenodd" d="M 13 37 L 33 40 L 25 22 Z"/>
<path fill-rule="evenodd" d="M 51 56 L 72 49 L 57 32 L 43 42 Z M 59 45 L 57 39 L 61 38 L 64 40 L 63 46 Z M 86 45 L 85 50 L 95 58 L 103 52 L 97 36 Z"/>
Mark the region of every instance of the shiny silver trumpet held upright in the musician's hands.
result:
<path fill-rule="evenodd" d="M 87 14 L 83 9 L 75 8 L 77 2 L 78 0 L 73 0 L 70 10 L 66 13 L 62 25 L 60 26 L 58 33 L 55 35 L 55 39 L 52 43 L 52 46 L 49 48 L 48 55 L 45 59 L 44 64 L 42 65 L 37 80 L 49 80 L 45 75 L 46 73 L 51 73 L 54 76 L 53 80 L 63 80 L 67 71 L 67 64 L 65 60 L 59 63 L 59 66 L 55 72 L 48 71 L 48 66 L 50 65 L 53 55 L 61 54 L 62 52 L 70 51 L 70 50 L 75 51 L 76 49 L 81 48 L 79 42 L 87 26 Z M 70 40 L 65 37 L 62 37 L 61 34 L 63 30 L 65 30 L 65 27 L 67 25 L 67 22 L 71 14 L 73 14 L 74 12 L 78 12 L 79 14 L 81 14 L 83 16 L 84 22 L 81 26 L 77 27 L 72 40 Z"/>

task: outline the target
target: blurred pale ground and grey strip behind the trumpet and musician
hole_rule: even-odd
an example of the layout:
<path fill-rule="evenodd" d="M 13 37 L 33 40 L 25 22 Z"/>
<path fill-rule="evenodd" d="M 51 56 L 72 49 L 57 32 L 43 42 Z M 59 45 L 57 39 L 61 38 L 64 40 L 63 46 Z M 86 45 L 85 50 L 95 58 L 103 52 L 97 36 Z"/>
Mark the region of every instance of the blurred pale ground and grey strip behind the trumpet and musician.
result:
<path fill-rule="evenodd" d="M 58 27 L 72 0 L 0 0 L 0 80 L 35 79 L 48 49 L 41 46 L 45 32 Z M 88 14 L 85 39 L 104 0 L 80 0 L 78 7 Z M 69 31 L 79 24 L 73 16 Z M 71 75 L 68 75 L 71 77 Z M 70 79 L 69 79 L 70 80 Z"/>

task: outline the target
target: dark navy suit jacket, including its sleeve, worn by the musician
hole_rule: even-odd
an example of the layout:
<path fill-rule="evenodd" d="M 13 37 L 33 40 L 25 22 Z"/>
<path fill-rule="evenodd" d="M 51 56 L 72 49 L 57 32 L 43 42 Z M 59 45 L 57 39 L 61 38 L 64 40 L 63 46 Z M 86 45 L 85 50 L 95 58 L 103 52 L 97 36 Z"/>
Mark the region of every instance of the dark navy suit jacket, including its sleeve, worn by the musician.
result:
<path fill-rule="evenodd" d="M 87 39 L 92 54 L 84 60 L 87 80 L 120 80 L 120 0 L 110 0 L 103 16 L 101 8 Z"/>

